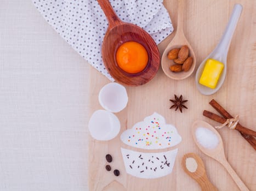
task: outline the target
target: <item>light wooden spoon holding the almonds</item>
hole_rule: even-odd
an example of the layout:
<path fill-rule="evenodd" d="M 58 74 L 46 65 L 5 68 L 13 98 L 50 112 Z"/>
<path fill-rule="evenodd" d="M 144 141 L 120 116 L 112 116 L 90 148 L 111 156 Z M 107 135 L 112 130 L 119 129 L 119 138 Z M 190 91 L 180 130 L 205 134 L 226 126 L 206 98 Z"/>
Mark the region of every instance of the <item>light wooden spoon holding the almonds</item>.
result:
<path fill-rule="evenodd" d="M 187 41 L 184 32 L 183 32 L 183 23 L 184 23 L 184 0 L 178 1 L 178 23 L 177 23 L 177 31 L 172 41 L 168 44 L 166 47 L 166 50 L 164 50 L 162 55 L 162 69 L 164 71 L 164 74 L 166 74 L 168 77 L 174 80 L 183 80 L 187 77 L 189 77 L 196 67 L 196 56 L 194 53 L 194 50 L 189 44 L 189 41 Z M 180 48 L 183 45 L 187 45 L 189 47 L 189 56 L 193 57 L 193 63 L 189 71 L 180 71 L 178 73 L 174 73 L 173 71 L 170 71 L 170 65 L 175 64 L 172 60 L 168 58 L 168 53 L 170 50 L 175 48 Z"/>

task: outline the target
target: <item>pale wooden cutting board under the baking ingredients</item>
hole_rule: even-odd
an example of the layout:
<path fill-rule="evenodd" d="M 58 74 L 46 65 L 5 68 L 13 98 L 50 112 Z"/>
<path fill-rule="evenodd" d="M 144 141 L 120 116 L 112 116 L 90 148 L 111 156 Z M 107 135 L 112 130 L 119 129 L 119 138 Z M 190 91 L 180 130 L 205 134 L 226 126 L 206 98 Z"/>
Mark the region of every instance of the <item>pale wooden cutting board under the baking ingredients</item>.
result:
<path fill-rule="evenodd" d="M 181 158 L 187 152 L 195 152 L 206 166 L 209 180 L 219 190 L 239 190 L 226 170 L 215 160 L 205 156 L 192 140 L 191 124 L 204 120 L 213 126 L 218 123 L 202 116 L 204 109 L 214 111 L 208 104 L 217 100 L 231 115 L 240 115 L 243 126 L 256 130 L 256 1 L 253 0 L 187 0 L 184 15 L 184 33 L 194 48 L 197 67 L 217 45 L 235 3 L 243 5 L 243 12 L 231 42 L 227 57 L 227 78 L 220 90 L 212 96 L 202 96 L 195 85 L 195 72 L 188 79 L 174 81 L 160 69 L 155 78 L 144 86 L 127 87 L 129 102 L 126 109 L 117 114 L 121 121 L 120 134 L 110 141 L 96 141 L 89 135 L 88 181 L 89 190 L 200 190 L 198 184 L 181 168 Z M 177 0 L 166 0 L 173 25 L 177 23 Z M 174 34 L 169 35 L 158 47 L 162 53 Z M 197 68 L 196 67 L 196 68 Z M 95 69 L 90 70 L 90 115 L 102 109 L 98 102 L 100 88 L 110 81 Z M 169 99 L 182 94 L 188 99 L 188 110 L 183 114 L 169 110 Z M 136 122 L 158 112 L 167 123 L 174 124 L 182 137 L 172 174 L 153 180 L 136 178 L 126 174 L 121 156 L 121 133 Z M 215 111 L 214 111 L 215 112 Z M 250 190 L 256 190 L 256 152 L 236 130 L 219 130 L 223 138 L 227 160 Z M 112 169 L 120 170 L 120 176 L 105 170 L 105 155 L 113 157 Z"/>

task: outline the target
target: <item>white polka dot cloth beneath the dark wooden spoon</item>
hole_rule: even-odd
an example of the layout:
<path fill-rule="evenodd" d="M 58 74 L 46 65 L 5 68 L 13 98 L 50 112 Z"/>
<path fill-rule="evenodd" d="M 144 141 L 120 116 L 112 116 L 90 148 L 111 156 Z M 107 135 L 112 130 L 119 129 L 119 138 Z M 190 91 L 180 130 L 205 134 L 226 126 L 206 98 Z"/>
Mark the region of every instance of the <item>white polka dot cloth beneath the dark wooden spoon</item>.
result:
<path fill-rule="evenodd" d="M 145 29 L 156 44 L 173 31 L 163 0 L 110 0 L 122 21 Z M 107 20 L 96 0 L 33 0 L 44 19 L 73 49 L 111 81 L 101 59 Z"/>

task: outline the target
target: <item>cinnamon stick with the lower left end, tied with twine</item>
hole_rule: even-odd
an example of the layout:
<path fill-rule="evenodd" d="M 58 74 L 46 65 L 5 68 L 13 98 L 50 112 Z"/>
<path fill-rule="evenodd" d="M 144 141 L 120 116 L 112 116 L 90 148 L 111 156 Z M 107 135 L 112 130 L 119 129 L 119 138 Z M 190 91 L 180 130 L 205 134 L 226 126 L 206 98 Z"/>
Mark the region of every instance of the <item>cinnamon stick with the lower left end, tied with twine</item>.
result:
<path fill-rule="evenodd" d="M 211 111 L 207 111 L 204 110 L 203 111 L 203 115 L 214 120 L 217 121 L 219 123 L 225 123 L 226 122 L 226 118 L 220 117 L 216 114 L 213 114 Z M 232 118 L 232 117 L 231 117 Z M 241 124 L 237 123 L 237 126 L 235 128 L 236 130 L 240 131 L 241 133 L 247 134 L 247 135 L 251 135 L 251 136 L 256 136 L 256 132 L 254 132 L 251 129 L 248 129 L 246 127 L 241 126 Z"/>

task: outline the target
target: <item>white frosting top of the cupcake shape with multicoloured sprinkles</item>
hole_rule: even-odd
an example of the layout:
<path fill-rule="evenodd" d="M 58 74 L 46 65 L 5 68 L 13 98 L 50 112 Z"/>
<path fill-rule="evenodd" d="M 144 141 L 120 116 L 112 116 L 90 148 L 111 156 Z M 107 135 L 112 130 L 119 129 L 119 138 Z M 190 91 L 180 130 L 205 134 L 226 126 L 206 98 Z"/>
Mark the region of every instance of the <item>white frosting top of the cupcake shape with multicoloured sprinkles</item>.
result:
<path fill-rule="evenodd" d="M 129 146 L 151 150 L 178 145 L 181 136 L 174 126 L 166 124 L 164 117 L 155 112 L 123 132 L 121 140 Z"/>

